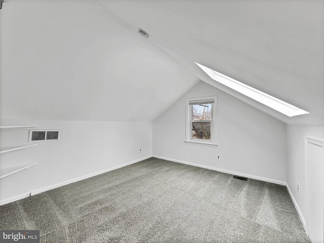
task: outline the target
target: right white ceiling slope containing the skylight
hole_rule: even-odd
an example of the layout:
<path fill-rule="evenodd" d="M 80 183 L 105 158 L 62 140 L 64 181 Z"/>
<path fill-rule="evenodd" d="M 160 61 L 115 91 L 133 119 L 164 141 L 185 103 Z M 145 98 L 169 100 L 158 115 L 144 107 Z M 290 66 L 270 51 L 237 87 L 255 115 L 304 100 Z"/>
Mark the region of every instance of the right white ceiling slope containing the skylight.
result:
<path fill-rule="evenodd" d="M 201 80 L 292 124 L 324 124 L 324 2 L 100 0 Z M 216 84 L 203 64 L 310 114 L 287 117 Z"/>

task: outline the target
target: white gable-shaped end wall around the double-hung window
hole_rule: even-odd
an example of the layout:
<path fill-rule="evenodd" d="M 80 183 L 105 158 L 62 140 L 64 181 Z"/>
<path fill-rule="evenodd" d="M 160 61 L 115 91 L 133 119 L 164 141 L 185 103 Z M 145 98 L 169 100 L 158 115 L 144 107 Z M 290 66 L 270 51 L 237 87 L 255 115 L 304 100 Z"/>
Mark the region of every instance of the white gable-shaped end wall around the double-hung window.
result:
<path fill-rule="evenodd" d="M 218 96 L 219 146 L 185 144 L 185 99 L 207 96 Z M 286 182 L 285 142 L 285 123 L 203 82 L 153 121 L 153 156 L 279 184 Z"/>

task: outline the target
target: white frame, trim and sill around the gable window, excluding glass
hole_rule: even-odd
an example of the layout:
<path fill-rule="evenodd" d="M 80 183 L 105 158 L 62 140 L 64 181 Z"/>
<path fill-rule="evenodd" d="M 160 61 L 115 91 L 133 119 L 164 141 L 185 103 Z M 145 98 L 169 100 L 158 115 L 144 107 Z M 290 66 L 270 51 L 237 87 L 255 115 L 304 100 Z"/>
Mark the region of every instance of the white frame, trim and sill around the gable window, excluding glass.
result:
<path fill-rule="evenodd" d="M 203 140 L 203 139 L 192 139 L 192 127 L 191 127 L 191 118 L 192 118 L 192 108 L 191 104 L 192 102 L 204 102 L 208 103 L 208 101 L 214 100 L 214 103 L 212 105 L 212 117 L 211 120 L 211 139 L 210 140 Z M 185 137 L 185 143 L 186 144 L 194 144 L 194 145 L 202 145 L 202 146 L 210 146 L 210 147 L 216 147 L 217 144 L 217 128 L 216 128 L 216 110 L 217 110 L 217 96 L 210 96 L 210 97 L 202 97 L 202 98 L 189 98 L 186 99 L 186 137 Z"/>

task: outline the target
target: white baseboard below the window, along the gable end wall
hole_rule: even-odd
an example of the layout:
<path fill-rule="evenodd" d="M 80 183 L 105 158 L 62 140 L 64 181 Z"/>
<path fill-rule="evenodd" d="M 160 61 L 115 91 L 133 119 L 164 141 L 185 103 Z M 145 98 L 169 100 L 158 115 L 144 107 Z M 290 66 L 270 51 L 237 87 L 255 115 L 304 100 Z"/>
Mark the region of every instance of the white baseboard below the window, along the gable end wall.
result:
<path fill-rule="evenodd" d="M 186 161 L 179 160 L 179 159 L 167 158 L 167 157 L 162 157 L 162 156 L 158 156 L 158 155 L 152 155 L 152 157 L 161 158 L 161 159 L 170 160 L 170 161 L 181 163 L 181 164 L 186 164 L 186 165 L 195 166 L 195 167 L 201 167 L 201 168 L 205 168 L 205 169 L 209 169 L 209 170 L 213 170 L 213 171 L 219 171 L 219 172 L 223 172 L 223 173 L 227 173 L 227 174 L 231 174 L 231 175 L 243 176 L 243 177 L 248 177 L 251 179 L 256 179 L 259 181 L 266 181 L 266 182 L 271 182 L 274 184 L 286 186 L 285 181 L 278 181 L 278 180 L 273 180 L 273 179 L 269 179 L 269 178 L 265 178 L 265 177 L 248 175 L 248 174 L 244 174 L 244 173 L 240 173 L 240 172 L 236 172 L 236 171 L 228 171 L 228 170 L 224 170 L 224 169 L 220 169 L 220 168 L 216 168 L 216 167 L 199 165 L 199 164 L 186 162 Z"/>

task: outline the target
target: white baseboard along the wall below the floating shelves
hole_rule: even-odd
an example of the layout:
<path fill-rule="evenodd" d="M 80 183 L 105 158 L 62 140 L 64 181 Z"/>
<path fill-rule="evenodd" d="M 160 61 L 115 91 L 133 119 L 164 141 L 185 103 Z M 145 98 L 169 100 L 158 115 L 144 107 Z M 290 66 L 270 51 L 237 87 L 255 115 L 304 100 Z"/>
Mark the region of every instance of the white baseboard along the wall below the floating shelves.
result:
<path fill-rule="evenodd" d="M 125 164 L 122 164 L 122 165 L 119 165 L 119 166 L 114 166 L 114 167 L 111 167 L 111 168 L 108 168 L 108 169 L 105 169 L 105 170 L 102 170 L 102 171 L 94 172 L 94 173 L 91 173 L 91 174 L 88 174 L 88 175 L 85 175 L 85 176 L 80 176 L 80 177 L 77 177 L 77 178 L 74 178 L 74 179 L 71 179 L 71 180 L 60 182 L 60 183 L 57 183 L 57 184 L 54 184 L 54 185 L 51 185 L 51 186 L 47 186 L 47 187 L 44 187 L 44 188 L 41 188 L 41 189 L 33 190 L 31 192 L 26 192 L 26 193 L 19 194 L 17 196 L 2 199 L 2 200 L 0 200 L 0 205 L 9 204 L 9 203 L 12 203 L 13 201 L 16 201 L 16 200 L 19 200 L 19 199 L 22 199 L 22 198 L 25 198 L 25 197 L 28 197 L 28 196 L 33 196 L 33 195 L 36 195 L 38 193 L 42 193 L 44 191 L 49 191 L 49 190 L 52 190 L 52 189 L 60 187 L 60 186 L 64 186 L 64 185 L 67 185 L 67 184 L 70 184 L 70 183 L 73 183 L 73 182 L 84 180 L 84 179 L 87 179 L 87 178 L 90 178 L 90 177 L 93 177 L 93 176 L 97 176 L 97 175 L 100 175 L 100 174 L 103 174 L 103 173 L 106 173 L 106 172 L 109 172 L 109 171 L 119 169 L 121 167 L 129 166 L 129 165 L 135 164 L 135 163 L 137 163 L 139 161 L 142 161 L 142 160 L 150 158 L 150 157 L 152 157 L 152 155 L 149 155 L 149 156 L 146 156 L 146 157 L 143 157 L 143 158 L 139 158 L 139 159 L 130 161 L 128 163 L 125 163 Z"/>

